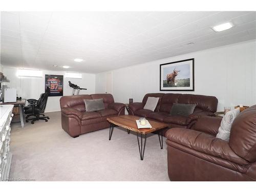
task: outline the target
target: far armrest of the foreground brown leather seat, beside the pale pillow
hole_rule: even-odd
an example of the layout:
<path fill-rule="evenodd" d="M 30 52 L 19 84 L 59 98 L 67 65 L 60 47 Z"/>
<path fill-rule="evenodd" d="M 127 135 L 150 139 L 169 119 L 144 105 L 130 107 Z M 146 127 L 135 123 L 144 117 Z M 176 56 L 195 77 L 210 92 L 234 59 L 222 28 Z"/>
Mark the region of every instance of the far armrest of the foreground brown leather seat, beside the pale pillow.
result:
<path fill-rule="evenodd" d="M 191 129 L 216 136 L 221 124 L 221 120 L 221 117 L 200 117 L 191 127 Z"/>

